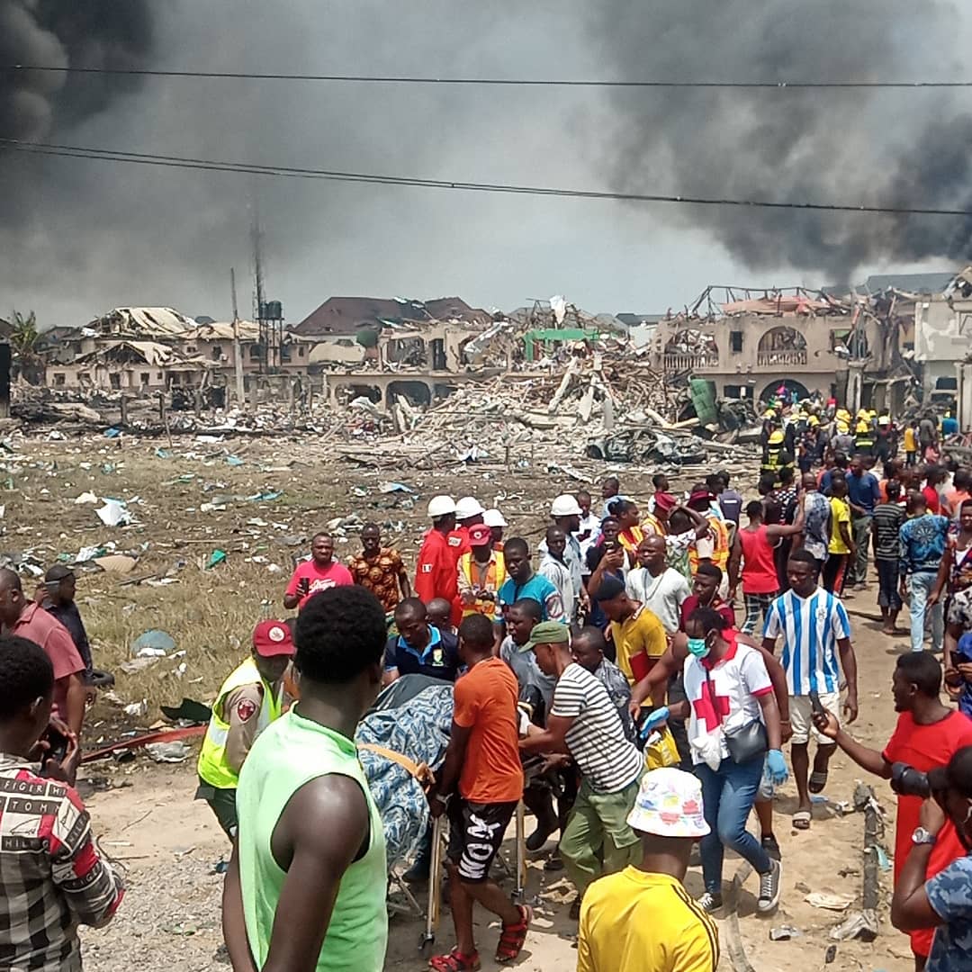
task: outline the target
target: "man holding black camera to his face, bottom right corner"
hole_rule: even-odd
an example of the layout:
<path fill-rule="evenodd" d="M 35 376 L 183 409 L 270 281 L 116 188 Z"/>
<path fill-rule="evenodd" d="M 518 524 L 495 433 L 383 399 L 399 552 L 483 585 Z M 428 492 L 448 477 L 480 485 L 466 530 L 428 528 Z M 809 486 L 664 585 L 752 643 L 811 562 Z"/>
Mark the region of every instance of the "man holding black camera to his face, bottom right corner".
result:
<path fill-rule="evenodd" d="M 972 968 L 972 746 L 932 770 L 925 789 L 932 795 L 921 804 L 920 826 L 894 887 L 891 923 L 900 931 L 934 931 L 924 972 Z M 950 830 L 962 856 L 927 878 Z"/>

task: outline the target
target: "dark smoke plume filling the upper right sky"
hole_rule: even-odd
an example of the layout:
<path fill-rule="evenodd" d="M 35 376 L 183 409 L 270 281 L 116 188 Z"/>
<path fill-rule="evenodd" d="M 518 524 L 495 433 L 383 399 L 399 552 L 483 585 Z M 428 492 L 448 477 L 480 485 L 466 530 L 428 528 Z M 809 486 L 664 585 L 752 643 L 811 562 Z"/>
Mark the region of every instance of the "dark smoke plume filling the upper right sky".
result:
<path fill-rule="evenodd" d="M 908 0 L 608 0 L 595 37 L 626 79 L 961 80 L 960 17 Z M 963 91 L 961 97 L 965 97 Z M 972 114 L 947 90 L 612 89 L 621 191 L 972 209 Z M 659 207 L 751 267 L 848 280 L 861 264 L 972 258 L 972 221 Z"/>

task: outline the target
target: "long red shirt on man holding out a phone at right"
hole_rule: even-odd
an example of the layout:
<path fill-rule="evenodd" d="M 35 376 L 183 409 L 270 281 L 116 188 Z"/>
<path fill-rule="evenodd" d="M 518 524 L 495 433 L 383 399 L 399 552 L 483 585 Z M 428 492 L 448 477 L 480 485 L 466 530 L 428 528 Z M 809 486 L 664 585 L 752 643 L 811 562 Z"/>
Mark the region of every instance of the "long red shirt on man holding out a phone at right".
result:
<path fill-rule="evenodd" d="M 911 712 L 902 712 L 882 755 L 889 763 L 907 763 L 922 773 L 945 766 L 963 746 L 972 746 L 972 719 L 962 712 L 952 712 L 930 726 L 915 723 Z M 919 825 L 921 798 L 899 796 L 897 822 L 894 828 L 894 881 L 897 883 L 905 859 L 912 848 L 911 837 Z M 956 858 L 965 856 L 955 826 L 948 820 L 938 835 L 935 847 L 928 859 L 927 877 L 944 870 Z M 916 955 L 928 955 L 934 928 L 922 928 L 911 933 L 912 951 Z"/>

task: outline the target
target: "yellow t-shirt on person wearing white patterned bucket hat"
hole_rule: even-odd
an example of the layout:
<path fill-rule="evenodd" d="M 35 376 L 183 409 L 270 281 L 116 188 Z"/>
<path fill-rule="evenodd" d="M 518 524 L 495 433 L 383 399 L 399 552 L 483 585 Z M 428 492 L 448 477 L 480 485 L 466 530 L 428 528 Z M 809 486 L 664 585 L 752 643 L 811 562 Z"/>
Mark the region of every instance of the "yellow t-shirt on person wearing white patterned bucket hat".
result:
<path fill-rule="evenodd" d="M 577 972 L 715 972 L 718 963 L 715 923 L 670 875 L 628 866 L 584 894 Z"/>

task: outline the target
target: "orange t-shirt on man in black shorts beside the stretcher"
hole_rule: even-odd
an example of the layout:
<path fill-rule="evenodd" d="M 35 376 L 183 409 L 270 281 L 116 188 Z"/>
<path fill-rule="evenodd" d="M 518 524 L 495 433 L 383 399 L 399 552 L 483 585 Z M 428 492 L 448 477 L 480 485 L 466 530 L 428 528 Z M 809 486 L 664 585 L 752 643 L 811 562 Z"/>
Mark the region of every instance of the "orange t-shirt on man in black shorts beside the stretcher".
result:
<path fill-rule="evenodd" d="M 477 662 L 453 690 L 457 726 L 470 729 L 459 793 L 470 803 L 512 803 L 523 796 L 516 676 L 499 658 Z"/>

